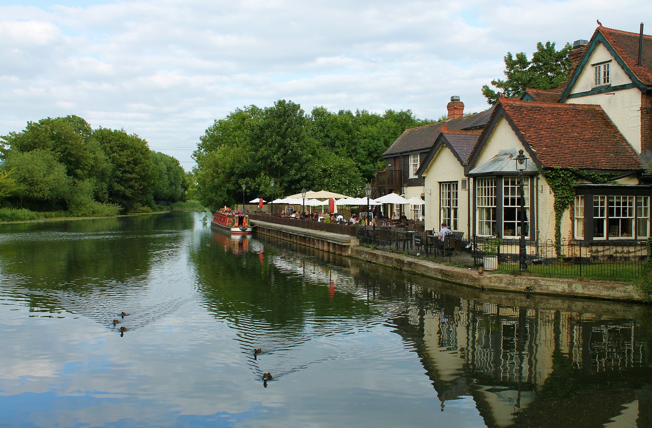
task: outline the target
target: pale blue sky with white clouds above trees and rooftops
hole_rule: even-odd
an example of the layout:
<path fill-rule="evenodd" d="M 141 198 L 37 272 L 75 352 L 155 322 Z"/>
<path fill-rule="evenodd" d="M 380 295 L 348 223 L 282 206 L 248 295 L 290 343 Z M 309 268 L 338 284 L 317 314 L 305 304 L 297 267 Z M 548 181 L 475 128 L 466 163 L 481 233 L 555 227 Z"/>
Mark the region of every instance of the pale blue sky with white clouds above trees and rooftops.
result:
<path fill-rule="evenodd" d="M 215 120 L 277 100 L 329 111 L 465 113 L 507 51 L 638 33 L 649 0 L 0 0 L 0 136 L 78 115 L 192 169 Z M 652 34 L 652 19 L 645 27 Z"/>

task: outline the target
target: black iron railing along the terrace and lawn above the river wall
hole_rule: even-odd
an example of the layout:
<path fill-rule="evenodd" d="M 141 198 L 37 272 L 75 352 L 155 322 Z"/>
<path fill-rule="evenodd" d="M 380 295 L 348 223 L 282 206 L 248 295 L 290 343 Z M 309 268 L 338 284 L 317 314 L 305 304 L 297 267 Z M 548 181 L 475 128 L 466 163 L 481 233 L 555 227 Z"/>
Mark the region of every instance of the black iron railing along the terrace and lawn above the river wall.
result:
<path fill-rule="evenodd" d="M 407 253 L 443 263 L 468 268 L 482 268 L 518 274 L 520 256 L 518 239 L 462 236 L 453 233 L 441 240 L 432 231 L 411 231 L 402 227 L 355 227 L 361 244 L 383 250 Z M 647 245 L 580 244 L 552 240 L 527 241 L 527 264 L 524 274 L 556 278 L 632 279 L 645 273 Z"/>

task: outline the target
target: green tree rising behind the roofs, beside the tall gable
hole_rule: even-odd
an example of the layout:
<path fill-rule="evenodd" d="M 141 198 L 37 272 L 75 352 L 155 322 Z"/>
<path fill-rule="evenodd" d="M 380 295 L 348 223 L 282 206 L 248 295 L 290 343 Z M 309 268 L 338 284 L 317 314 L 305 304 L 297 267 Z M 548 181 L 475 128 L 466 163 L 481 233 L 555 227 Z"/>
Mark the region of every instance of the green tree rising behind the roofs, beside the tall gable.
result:
<path fill-rule="evenodd" d="M 546 42 L 546 44 L 539 42 L 531 61 L 528 61 L 524 52 L 516 53 L 515 57 L 511 52 L 507 52 L 504 58 L 504 74 L 507 79 L 491 81 L 491 84 L 501 91 L 497 92 L 489 85 L 482 85 L 482 95 L 487 98 L 489 104 L 496 104 L 501 95 L 512 98 L 521 96 L 527 88 L 554 89 L 558 87 L 570 77 L 571 61 L 568 55 L 571 50 L 572 46 L 569 43 L 557 51 L 555 42 Z"/>

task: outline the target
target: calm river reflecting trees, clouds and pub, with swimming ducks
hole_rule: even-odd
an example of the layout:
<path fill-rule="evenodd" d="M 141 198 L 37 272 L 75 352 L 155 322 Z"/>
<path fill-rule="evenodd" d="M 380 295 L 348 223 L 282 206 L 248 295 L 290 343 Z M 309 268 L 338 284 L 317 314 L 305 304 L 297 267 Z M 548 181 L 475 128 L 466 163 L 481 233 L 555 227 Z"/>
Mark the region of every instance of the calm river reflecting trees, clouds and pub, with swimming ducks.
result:
<path fill-rule="evenodd" d="M 0 427 L 652 426 L 649 306 L 479 291 L 202 218 L 0 225 Z"/>

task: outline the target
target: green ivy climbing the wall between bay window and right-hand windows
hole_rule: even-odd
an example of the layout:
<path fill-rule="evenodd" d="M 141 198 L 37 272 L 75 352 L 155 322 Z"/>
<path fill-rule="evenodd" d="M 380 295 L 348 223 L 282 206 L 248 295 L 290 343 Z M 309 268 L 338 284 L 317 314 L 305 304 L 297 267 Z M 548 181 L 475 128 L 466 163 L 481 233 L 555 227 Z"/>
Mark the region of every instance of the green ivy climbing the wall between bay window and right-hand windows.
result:
<path fill-rule="evenodd" d="M 577 180 L 584 179 L 593 183 L 611 182 L 613 174 L 593 173 L 584 169 L 554 167 L 542 171 L 546 182 L 552 189 L 555 197 L 555 247 L 557 254 L 561 251 L 561 219 L 566 208 L 571 206 L 575 199 Z"/>

